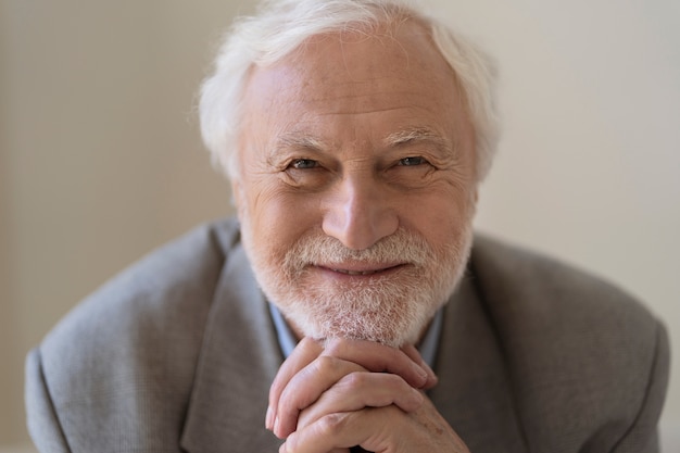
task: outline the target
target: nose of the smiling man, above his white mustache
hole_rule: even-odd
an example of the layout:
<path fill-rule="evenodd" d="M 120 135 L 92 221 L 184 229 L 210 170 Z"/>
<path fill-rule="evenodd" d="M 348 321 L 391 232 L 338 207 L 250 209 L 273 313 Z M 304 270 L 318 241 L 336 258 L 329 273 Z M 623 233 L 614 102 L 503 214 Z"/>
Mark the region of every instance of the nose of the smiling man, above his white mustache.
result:
<path fill-rule="evenodd" d="M 349 249 L 370 248 L 399 227 L 389 199 L 387 189 L 366 175 L 343 178 L 327 200 L 324 232 Z"/>

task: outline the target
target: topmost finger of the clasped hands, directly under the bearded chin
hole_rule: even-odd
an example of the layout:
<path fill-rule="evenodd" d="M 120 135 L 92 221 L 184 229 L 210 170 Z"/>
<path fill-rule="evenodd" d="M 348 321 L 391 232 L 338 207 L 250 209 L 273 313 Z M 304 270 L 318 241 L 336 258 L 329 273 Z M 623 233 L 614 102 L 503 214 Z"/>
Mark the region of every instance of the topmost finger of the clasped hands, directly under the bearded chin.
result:
<path fill-rule="evenodd" d="M 373 341 L 330 339 L 326 342 L 323 355 L 354 362 L 369 372 L 399 375 L 416 389 L 423 388 L 430 380 L 429 372 L 418 363 L 423 362 L 421 358 L 416 362 L 404 351 Z"/>

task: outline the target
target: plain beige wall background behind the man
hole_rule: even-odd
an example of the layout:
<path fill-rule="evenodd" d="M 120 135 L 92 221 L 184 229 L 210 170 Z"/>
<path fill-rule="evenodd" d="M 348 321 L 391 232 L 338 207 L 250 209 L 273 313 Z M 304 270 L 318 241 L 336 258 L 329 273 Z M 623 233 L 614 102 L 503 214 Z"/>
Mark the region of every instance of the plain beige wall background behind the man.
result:
<path fill-rule="evenodd" d="M 191 109 L 248 3 L 0 0 L 0 451 L 26 441 L 28 349 L 115 272 L 229 211 Z M 478 226 L 617 281 L 677 342 L 680 3 L 437 3 L 503 73 Z M 677 374 L 664 430 L 680 436 Z"/>

